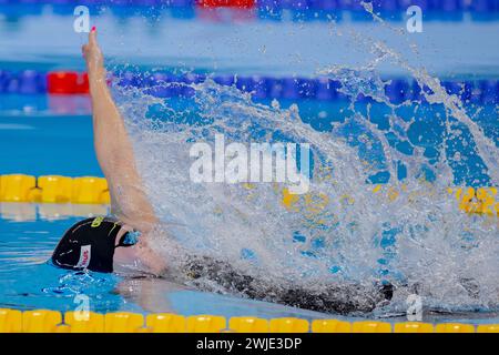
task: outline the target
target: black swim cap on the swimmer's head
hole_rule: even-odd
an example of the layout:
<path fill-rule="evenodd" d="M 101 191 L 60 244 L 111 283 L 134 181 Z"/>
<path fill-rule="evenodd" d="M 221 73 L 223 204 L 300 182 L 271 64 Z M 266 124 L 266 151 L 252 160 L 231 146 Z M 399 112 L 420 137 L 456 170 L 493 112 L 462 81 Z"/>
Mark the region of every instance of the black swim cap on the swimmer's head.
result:
<path fill-rule="evenodd" d="M 111 217 L 93 217 L 74 224 L 59 242 L 52 254 L 55 266 L 70 270 L 84 270 L 112 273 L 113 256 L 121 225 Z"/>

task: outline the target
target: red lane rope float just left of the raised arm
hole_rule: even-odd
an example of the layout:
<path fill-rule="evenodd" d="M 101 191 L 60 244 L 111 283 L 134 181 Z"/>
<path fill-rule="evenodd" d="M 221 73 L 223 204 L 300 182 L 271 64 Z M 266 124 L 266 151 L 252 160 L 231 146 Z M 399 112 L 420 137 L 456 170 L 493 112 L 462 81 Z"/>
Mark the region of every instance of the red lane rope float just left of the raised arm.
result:
<path fill-rule="evenodd" d="M 47 91 L 50 94 L 83 94 L 89 93 L 86 73 L 75 71 L 55 71 L 47 75 Z"/>

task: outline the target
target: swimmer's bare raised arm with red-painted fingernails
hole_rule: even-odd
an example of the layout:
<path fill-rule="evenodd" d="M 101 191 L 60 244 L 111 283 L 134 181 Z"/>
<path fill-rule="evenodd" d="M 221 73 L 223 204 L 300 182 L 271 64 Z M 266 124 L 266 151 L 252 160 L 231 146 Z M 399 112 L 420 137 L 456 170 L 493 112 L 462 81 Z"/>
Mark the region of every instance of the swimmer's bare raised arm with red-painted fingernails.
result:
<path fill-rule="evenodd" d="M 95 153 L 108 179 L 112 213 L 146 233 L 156 224 L 156 217 L 143 191 L 123 119 L 106 84 L 104 58 L 96 41 L 95 28 L 82 51 L 92 99 Z"/>

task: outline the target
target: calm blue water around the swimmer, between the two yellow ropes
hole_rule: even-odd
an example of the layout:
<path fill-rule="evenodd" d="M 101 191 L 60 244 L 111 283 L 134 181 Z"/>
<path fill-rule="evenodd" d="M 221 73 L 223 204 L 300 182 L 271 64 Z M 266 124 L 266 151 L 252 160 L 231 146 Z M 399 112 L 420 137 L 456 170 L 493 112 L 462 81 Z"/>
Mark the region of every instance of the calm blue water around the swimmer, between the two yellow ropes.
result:
<path fill-rule="evenodd" d="M 86 206 L 84 212 L 102 213 L 102 209 Z M 50 265 L 59 235 L 74 216 L 54 217 L 63 205 L 50 207 L 33 204 L 0 204 L 0 307 L 16 310 L 72 311 L 81 306 L 81 295 L 89 297 L 94 312 L 129 311 L 139 313 L 172 312 L 183 315 L 216 314 L 259 316 L 264 318 L 297 316 L 308 320 L 330 317 L 330 314 L 303 311 L 276 304 L 242 300 L 230 295 L 202 293 L 167 281 L 126 280 L 99 273 L 68 273 Z M 84 213 L 83 212 L 83 213 Z M 74 213 L 74 212 L 72 212 Z M 77 212 L 78 214 L 79 212 Z M 81 211 L 80 211 L 81 213 Z M 359 320 L 334 315 L 336 318 Z M 370 315 L 373 317 L 373 315 Z M 404 320 L 400 313 L 384 314 L 389 322 Z M 455 312 L 425 314 L 428 322 L 495 323 L 497 313 Z"/>

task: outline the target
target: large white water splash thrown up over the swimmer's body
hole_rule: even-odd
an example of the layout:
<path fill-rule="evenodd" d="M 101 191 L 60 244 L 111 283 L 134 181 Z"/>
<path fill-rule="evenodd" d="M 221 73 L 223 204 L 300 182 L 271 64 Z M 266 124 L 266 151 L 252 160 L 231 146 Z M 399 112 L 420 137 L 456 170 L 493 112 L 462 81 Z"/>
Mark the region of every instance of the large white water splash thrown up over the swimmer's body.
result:
<path fill-rule="evenodd" d="M 460 212 L 445 190 L 457 180 L 459 158 L 448 156 L 454 141 L 475 150 L 491 185 L 499 178 L 497 146 L 459 98 L 424 68 L 410 67 L 401 54 L 364 34 L 353 40 L 368 45 L 374 60 L 361 68 L 319 71 L 342 82 L 349 98 L 345 120 L 328 132 L 304 123 L 297 105 L 255 103 L 249 94 L 211 80 L 185 85 L 193 97 L 181 100 L 154 98 L 150 89 L 116 88 L 141 174 L 163 221 L 157 247 L 173 267 L 186 254 L 210 255 L 276 287 L 293 283 L 315 292 L 348 281 L 370 292 L 373 284 L 389 282 L 396 286 L 394 301 L 381 312 L 403 310 L 413 293 L 434 308 L 496 310 L 498 222 Z M 407 70 L 427 102 L 391 103 L 385 95 L 388 82 L 377 74 L 384 62 Z M 410 125 L 428 106 L 444 108 L 445 141 L 434 148 L 436 158 L 410 144 Z M 374 123 L 380 108 L 387 112 L 385 130 Z M 286 186 L 278 183 L 192 183 L 191 144 L 213 142 L 217 133 L 227 143 L 309 143 L 310 193 L 284 204 Z M 404 179 L 397 179 L 400 166 Z M 388 184 L 378 191 L 368 181 L 383 173 Z"/>

